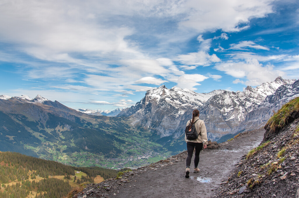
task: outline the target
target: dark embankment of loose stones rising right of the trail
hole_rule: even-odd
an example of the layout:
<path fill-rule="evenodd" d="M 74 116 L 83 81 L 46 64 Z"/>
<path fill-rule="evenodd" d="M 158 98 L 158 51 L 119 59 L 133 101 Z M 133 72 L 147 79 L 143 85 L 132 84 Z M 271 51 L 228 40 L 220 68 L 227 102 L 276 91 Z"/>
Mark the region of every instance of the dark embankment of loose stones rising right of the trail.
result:
<path fill-rule="evenodd" d="M 283 129 L 265 126 L 263 142 L 242 157 L 215 198 L 299 197 L 299 116 L 289 114 L 294 121 Z"/>

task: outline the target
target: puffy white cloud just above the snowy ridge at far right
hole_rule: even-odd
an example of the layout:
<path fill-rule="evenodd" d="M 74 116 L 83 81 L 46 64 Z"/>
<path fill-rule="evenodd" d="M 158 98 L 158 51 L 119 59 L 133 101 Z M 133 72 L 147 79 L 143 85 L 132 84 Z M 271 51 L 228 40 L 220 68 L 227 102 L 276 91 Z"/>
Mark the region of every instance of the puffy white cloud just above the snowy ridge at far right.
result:
<path fill-rule="evenodd" d="M 257 86 L 263 82 L 271 82 L 277 76 L 283 76 L 284 72 L 274 70 L 274 66 L 263 66 L 256 59 L 246 60 L 246 62 L 226 62 L 217 63 L 214 67 L 219 71 L 224 71 L 225 74 L 235 78 L 247 78 L 245 85 Z M 238 82 L 238 81 L 235 81 Z"/>

